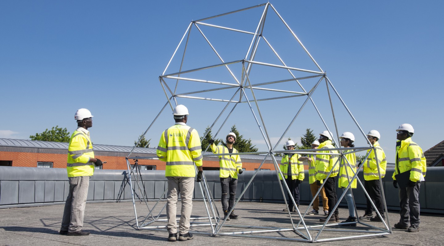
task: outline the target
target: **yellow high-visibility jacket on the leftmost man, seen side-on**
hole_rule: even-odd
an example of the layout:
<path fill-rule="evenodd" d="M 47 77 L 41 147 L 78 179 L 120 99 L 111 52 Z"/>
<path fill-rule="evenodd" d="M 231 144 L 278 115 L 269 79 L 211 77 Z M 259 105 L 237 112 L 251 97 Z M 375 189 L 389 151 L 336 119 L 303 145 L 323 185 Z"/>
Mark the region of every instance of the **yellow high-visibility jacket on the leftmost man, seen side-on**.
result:
<path fill-rule="evenodd" d="M 94 175 L 94 163 L 89 162 L 94 158 L 89 131 L 78 127 L 69 140 L 68 159 L 66 169 L 68 177 L 81 177 Z"/>

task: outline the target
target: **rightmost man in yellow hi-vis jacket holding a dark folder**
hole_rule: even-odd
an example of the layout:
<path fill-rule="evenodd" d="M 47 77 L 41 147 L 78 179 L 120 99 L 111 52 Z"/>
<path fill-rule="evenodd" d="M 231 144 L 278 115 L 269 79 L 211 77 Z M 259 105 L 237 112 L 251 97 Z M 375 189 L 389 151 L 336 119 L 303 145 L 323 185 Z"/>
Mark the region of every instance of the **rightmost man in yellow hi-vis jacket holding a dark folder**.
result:
<path fill-rule="evenodd" d="M 408 232 L 419 231 L 420 203 L 419 191 L 421 181 L 424 181 L 427 171 L 426 159 L 420 146 L 412 141 L 413 127 L 410 124 L 402 124 L 396 130 L 396 163 L 393 173 L 393 186 L 397 187 L 395 175 L 408 172 L 407 187 L 399 187 L 399 204 L 401 218 L 394 224 L 395 228 L 408 229 Z M 400 185 L 400 184 L 399 184 Z M 410 227 L 408 227 L 410 219 Z M 408 228 L 407 228 L 408 227 Z"/>

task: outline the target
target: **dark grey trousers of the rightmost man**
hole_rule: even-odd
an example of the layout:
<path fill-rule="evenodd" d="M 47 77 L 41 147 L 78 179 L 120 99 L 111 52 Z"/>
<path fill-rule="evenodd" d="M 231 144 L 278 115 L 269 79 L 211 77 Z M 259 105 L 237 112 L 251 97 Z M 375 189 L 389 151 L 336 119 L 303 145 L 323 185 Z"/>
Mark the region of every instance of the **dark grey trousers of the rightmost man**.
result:
<path fill-rule="evenodd" d="M 420 204 L 419 204 L 419 189 L 420 189 L 421 183 L 417 183 L 413 187 L 406 187 L 406 188 L 400 188 L 399 189 L 399 205 L 401 210 L 399 211 L 399 214 L 401 215 L 401 218 L 399 220 L 399 223 L 401 223 L 404 226 L 408 226 L 408 219 L 410 217 L 410 225 L 411 226 L 419 226 L 420 219 L 419 219 L 419 211 L 420 211 Z"/>

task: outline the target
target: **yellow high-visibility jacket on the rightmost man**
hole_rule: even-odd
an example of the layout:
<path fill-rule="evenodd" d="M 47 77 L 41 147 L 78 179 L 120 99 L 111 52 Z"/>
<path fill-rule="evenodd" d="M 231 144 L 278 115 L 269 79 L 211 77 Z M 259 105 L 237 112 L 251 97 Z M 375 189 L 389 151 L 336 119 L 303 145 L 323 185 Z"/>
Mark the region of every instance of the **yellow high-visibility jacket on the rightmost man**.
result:
<path fill-rule="evenodd" d="M 399 141 L 398 141 L 399 142 Z M 392 178 L 396 180 L 395 175 L 410 171 L 410 180 L 413 182 L 422 181 L 427 171 L 426 159 L 420 146 L 407 138 L 401 141 L 401 145 L 396 147 L 396 166 Z"/>

